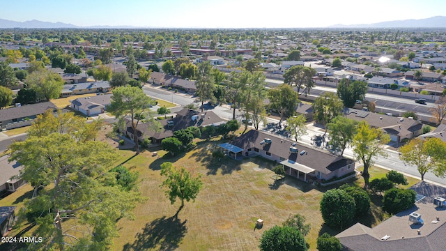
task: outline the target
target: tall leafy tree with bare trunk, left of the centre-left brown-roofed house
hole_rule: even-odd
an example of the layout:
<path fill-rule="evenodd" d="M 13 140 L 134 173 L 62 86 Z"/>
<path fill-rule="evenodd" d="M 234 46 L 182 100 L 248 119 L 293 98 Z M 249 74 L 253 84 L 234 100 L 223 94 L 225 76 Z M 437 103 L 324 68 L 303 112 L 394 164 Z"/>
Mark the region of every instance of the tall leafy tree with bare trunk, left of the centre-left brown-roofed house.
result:
<path fill-rule="evenodd" d="M 112 112 L 121 125 L 125 123 L 125 118 L 130 117 L 137 154 L 139 154 L 137 130 L 139 122 L 144 121 L 152 130 L 160 129 L 160 123 L 153 119 L 150 110 L 152 105 L 155 105 L 155 100 L 146 96 L 142 89 L 136 86 L 121 86 L 113 90 L 112 102 L 107 107 L 107 111 Z"/>

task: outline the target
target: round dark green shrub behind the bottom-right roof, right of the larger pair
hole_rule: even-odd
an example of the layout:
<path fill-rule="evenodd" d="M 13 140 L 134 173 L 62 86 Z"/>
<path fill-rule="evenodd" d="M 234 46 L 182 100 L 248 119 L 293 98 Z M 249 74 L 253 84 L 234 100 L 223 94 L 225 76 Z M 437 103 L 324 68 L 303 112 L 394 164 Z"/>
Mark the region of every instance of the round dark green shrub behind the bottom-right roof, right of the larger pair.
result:
<path fill-rule="evenodd" d="M 415 204 L 417 193 L 410 189 L 392 188 L 385 192 L 383 208 L 388 213 L 399 213 Z"/>

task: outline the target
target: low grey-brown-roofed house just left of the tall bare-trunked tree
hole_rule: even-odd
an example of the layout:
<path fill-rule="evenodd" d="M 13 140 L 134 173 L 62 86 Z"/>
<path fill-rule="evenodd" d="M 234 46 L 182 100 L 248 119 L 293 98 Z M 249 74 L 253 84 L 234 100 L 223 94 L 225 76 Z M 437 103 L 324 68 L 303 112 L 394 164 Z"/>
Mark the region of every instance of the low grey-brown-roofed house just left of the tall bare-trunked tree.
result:
<path fill-rule="evenodd" d="M 112 96 L 112 94 L 105 94 L 86 98 L 76 98 L 71 101 L 71 107 L 86 116 L 95 116 L 105 112 L 107 105 L 110 105 L 112 101 Z"/>

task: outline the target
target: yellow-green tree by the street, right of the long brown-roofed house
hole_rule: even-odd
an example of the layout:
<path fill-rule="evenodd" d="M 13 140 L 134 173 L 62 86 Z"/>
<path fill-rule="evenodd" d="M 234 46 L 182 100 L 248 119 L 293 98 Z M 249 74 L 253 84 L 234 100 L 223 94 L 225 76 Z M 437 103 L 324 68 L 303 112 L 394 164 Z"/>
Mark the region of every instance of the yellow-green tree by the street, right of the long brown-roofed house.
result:
<path fill-rule="evenodd" d="M 353 153 L 355 158 L 362 162 L 364 170 L 362 177 L 364 177 L 364 188 L 369 187 L 369 167 L 374 164 L 375 157 L 385 157 L 387 153 L 384 151 L 385 144 L 390 142 L 390 136 L 383 132 L 383 130 L 370 128 L 365 121 L 361 121 L 357 126 L 357 134 L 353 137 Z"/>

